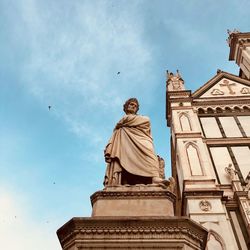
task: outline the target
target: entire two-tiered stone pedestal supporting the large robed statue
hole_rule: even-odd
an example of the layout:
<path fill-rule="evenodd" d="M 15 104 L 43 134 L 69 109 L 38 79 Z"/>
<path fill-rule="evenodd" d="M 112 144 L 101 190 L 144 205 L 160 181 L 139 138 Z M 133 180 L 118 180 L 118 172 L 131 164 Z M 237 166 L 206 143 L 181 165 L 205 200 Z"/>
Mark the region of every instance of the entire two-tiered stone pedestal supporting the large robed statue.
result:
<path fill-rule="evenodd" d="M 174 216 L 175 195 L 159 185 L 106 187 L 91 196 L 92 217 L 57 231 L 63 250 L 205 249 L 207 231 Z"/>

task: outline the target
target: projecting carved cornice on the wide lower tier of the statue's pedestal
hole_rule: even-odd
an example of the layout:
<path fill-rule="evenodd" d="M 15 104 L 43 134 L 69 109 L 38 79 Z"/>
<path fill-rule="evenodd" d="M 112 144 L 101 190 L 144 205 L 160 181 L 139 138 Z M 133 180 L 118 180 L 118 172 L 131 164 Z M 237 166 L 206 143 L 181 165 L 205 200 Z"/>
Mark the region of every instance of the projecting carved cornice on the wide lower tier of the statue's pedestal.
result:
<path fill-rule="evenodd" d="M 72 241 L 123 239 L 156 241 L 188 238 L 205 249 L 207 231 L 185 217 L 73 218 L 57 231 L 61 245 Z M 197 244 L 197 243 L 196 243 Z"/>

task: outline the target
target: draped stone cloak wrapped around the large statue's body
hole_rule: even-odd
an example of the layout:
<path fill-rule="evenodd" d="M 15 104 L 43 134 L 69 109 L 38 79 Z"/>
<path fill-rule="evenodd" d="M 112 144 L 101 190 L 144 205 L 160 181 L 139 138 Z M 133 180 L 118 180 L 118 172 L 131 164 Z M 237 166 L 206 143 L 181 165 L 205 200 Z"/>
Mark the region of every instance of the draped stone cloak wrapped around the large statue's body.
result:
<path fill-rule="evenodd" d="M 159 162 L 154 152 L 151 137 L 150 120 L 146 116 L 128 114 L 116 125 L 106 149 L 105 155 L 111 159 L 107 166 L 106 178 L 112 178 L 115 171 L 121 168 L 127 172 L 145 176 L 159 176 Z M 118 161 L 117 161 L 118 160 Z M 108 169 L 112 161 L 117 165 L 111 171 Z"/>

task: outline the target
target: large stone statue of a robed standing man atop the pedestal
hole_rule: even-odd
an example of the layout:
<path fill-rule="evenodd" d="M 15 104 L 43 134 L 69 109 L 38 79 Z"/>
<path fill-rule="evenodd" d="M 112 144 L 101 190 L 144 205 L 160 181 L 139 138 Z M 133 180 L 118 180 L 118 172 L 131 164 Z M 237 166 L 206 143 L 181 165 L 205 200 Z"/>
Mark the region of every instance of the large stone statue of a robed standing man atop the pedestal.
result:
<path fill-rule="evenodd" d="M 169 183 L 162 178 L 164 160 L 154 152 L 150 120 L 137 114 L 137 99 L 127 100 L 123 110 L 125 115 L 116 124 L 104 150 L 104 186 Z"/>

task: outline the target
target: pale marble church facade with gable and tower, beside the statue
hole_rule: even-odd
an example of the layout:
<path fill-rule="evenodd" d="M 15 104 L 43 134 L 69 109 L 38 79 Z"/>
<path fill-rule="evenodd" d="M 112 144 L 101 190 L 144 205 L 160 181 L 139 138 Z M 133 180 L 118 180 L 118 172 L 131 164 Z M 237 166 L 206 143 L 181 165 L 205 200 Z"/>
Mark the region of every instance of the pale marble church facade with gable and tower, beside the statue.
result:
<path fill-rule="evenodd" d="M 179 216 L 204 226 L 207 249 L 250 249 L 250 33 L 229 32 L 230 60 L 194 91 L 167 76 L 167 124 Z"/>

